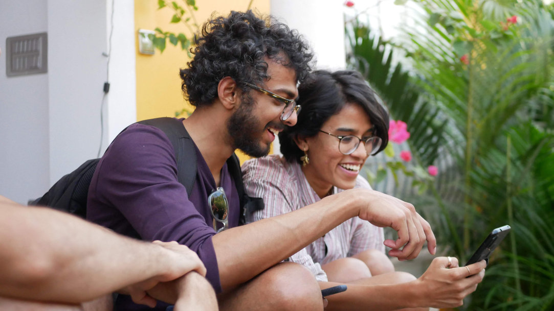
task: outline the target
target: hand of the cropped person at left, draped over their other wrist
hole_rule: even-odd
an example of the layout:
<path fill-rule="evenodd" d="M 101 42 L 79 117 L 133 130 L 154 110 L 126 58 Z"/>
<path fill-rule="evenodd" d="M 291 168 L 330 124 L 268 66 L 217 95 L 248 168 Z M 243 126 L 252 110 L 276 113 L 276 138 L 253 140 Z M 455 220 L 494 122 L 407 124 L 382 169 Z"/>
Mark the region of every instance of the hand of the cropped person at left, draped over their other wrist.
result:
<path fill-rule="evenodd" d="M 145 304 L 151 308 L 156 307 L 156 299 L 149 296 L 146 292 L 155 287 L 158 283 L 173 281 L 189 272 L 197 272 L 201 277 L 206 276 L 206 267 L 204 267 L 198 255 L 189 250 L 187 246 L 180 245 L 175 241 L 153 241 L 152 243 L 167 250 L 167 254 L 163 257 L 163 261 L 155 263 L 163 270 L 155 277 L 132 284 L 121 290 L 123 293 L 128 293 L 133 302 Z"/>

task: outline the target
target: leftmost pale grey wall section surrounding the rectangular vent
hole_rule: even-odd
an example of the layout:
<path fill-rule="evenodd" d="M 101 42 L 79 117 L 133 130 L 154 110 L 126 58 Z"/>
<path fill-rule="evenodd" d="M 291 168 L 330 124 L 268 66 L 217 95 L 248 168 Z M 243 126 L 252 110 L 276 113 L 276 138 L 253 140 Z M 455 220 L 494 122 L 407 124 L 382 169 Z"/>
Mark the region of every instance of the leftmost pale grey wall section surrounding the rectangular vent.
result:
<path fill-rule="evenodd" d="M 20 203 L 49 186 L 48 74 L 7 77 L 6 38 L 46 32 L 47 20 L 44 0 L 0 2 L 0 195 Z"/>

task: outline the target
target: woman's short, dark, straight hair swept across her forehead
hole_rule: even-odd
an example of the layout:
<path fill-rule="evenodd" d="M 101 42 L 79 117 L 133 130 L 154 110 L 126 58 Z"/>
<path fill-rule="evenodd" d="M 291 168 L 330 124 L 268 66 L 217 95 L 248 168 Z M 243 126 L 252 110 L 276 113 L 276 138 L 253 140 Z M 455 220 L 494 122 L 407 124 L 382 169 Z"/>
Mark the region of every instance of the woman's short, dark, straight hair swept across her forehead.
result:
<path fill-rule="evenodd" d="M 376 136 L 383 141 L 379 152 L 387 146 L 388 113 L 377 102 L 375 92 L 359 72 L 317 70 L 300 85 L 298 94 L 299 100 L 296 102 L 302 109 L 296 125 L 279 133 L 281 153 L 288 162 L 300 163 L 300 157 L 304 155 L 296 146 L 294 138 L 316 136 L 323 123 L 341 111 L 347 103 L 360 105 L 370 117 Z"/>

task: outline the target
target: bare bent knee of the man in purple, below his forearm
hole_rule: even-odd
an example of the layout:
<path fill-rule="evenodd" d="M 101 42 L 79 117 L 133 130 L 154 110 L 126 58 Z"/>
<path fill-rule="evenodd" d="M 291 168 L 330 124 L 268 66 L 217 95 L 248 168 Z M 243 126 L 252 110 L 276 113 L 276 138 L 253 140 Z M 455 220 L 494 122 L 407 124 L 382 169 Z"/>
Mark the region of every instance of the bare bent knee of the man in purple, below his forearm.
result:
<path fill-rule="evenodd" d="M 314 275 L 292 262 L 279 263 L 242 286 L 219 294 L 218 303 L 222 311 L 323 310 Z"/>

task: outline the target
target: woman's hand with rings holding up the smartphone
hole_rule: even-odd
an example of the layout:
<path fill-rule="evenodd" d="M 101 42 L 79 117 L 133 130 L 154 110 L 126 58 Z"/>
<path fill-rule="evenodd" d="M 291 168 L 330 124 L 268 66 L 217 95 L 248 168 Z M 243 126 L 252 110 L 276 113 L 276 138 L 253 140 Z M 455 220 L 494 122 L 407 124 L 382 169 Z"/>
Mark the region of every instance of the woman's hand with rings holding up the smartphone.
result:
<path fill-rule="evenodd" d="M 431 262 L 427 271 L 418 278 L 417 288 L 423 291 L 420 302 L 423 307 L 455 308 L 463 304 L 463 300 L 477 288 L 477 284 L 483 281 L 486 262 L 480 261 L 473 265 L 458 267 L 458 259 L 437 257 Z"/>

